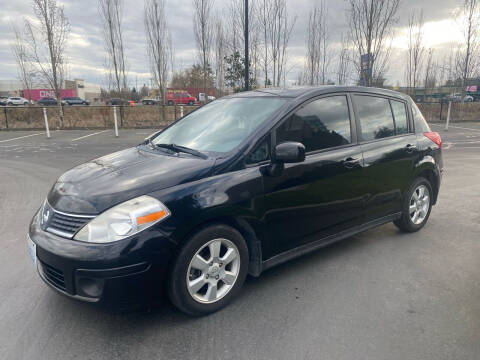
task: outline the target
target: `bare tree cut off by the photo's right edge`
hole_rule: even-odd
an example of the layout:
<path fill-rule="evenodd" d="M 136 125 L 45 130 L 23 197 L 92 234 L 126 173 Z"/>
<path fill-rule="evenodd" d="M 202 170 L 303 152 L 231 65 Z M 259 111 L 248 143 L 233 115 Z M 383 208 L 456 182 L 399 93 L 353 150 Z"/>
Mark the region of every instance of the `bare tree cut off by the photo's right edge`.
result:
<path fill-rule="evenodd" d="M 462 88 L 465 91 L 466 81 L 478 71 L 477 55 L 480 45 L 480 4 L 479 0 L 464 0 L 460 12 L 460 26 L 464 36 L 464 44 L 459 49 L 457 68 L 462 78 Z"/>

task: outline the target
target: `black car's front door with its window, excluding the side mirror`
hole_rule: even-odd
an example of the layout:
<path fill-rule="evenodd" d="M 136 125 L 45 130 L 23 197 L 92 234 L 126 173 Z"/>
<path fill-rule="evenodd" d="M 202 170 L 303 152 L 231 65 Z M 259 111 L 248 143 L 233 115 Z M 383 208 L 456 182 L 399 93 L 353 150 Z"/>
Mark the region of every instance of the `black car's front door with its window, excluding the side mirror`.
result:
<path fill-rule="evenodd" d="M 273 131 L 274 145 L 296 141 L 306 159 L 265 176 L 265 221 L 284 252 L 360 224 L 365 186 L 349 97 L 308 101 Z"/>

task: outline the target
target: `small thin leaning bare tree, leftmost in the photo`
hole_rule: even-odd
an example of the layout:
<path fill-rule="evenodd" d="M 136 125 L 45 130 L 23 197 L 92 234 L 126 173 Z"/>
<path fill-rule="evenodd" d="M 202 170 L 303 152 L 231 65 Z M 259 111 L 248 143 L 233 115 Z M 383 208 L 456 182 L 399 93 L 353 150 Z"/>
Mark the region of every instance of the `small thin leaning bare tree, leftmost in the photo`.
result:
<path fill-rule="evenodd" d="M 26 94 L 23 94 L 23 96 L 25 96 L 28 100 L 32 100 L 30 90 L 32 89 L 35 73 L 28 56 L 27 43 L 25 42 L 21 30 L 19 30 L 13 24 L 12 30 L 15 36 L 12 44 L 12 53 L 17 63 L 18 79 L 22 83 L 23 89 L 26 90 Z"/>

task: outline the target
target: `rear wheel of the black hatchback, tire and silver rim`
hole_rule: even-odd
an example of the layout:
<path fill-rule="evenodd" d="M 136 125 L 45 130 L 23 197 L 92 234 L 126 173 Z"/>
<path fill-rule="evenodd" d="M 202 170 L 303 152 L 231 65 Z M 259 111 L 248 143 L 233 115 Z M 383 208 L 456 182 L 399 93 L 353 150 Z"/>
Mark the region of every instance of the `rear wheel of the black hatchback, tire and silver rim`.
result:
<path fill-rule="evenodd" d="M 420 189 L 423 189 L 423 192 Z M 423 228 L 432 211 L 432 196 L 430 182 L 423 177 L 416 178 L 403 201 L 402 217 L 393 223 L 404 232 L 415 232 Z"/>

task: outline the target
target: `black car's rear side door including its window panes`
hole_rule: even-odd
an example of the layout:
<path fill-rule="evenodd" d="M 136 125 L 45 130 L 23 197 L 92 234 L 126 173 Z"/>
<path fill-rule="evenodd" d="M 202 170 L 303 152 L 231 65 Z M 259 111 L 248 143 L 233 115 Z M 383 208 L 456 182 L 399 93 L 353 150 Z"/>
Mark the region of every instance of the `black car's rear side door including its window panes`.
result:
<path fill-rule="evenodd" d="M 406 101 L 365 94 L 352 98 L 369 188 L 364 221 L 369 222 L 401 211 L 418 156 L 417 140 Z"/>

